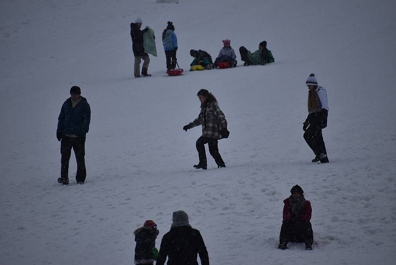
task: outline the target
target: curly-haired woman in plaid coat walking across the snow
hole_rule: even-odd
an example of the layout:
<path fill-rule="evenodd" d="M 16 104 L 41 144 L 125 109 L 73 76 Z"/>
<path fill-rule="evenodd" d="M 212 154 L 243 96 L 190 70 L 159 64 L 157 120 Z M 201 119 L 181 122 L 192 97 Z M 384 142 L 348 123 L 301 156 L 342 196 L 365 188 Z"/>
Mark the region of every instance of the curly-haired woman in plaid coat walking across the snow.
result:
<path fill-rule="evenodd" d="M 201 111 L 198 118 L 183 127 L 183 130 L 187 132 L 188 129 L 202 125 L 202 135 L 197 140 L 199 163 L 194 165 L 194 167 L 207 169 L 204 144 L 208 144 L 209 153 L 216 161 L 217 168 L 225 167 L 226 164 L 219 154 L 217 140 L 228 138 L 230 135 L 227 130 L 226 117 L 217 105 L 217 100 L 212 93 L 209 93 L 206 89 L 201 89 L 198 91 L 197 96 L 201 102 Z"/>

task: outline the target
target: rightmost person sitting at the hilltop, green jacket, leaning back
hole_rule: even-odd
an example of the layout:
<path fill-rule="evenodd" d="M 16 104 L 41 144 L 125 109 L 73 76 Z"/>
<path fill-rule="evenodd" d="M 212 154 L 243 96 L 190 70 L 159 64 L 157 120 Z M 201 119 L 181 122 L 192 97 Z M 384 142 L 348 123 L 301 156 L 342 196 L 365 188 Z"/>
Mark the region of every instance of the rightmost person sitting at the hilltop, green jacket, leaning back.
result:
<path fill-rule="evenodd" d="M 260 42 L 258 45 L 258 50 L 254 53 L 250 53 L 244 46 L 239 48 L 239 52 L 241 53 L 241 59 L 244 61 L 244 65 L 264 65 L 266 63 L 274 62 L 275 59 L 272 56 L 270 50 L 267 49 L 267 42 Z"/>

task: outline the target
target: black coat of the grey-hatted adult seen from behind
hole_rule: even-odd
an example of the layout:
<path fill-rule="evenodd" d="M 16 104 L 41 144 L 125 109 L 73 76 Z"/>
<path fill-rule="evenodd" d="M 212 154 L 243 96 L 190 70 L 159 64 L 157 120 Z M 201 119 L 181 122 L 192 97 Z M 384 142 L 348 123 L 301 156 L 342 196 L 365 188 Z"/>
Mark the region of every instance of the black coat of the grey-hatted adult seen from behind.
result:
<path fill-rule="evenodd" d="M 205 243 L 197 229 L 190 226 L 176 226 L 167 232 L 161 241 L 156 265 L 198 265 L 197 254 L 201 265 L 209 265 Z"/>

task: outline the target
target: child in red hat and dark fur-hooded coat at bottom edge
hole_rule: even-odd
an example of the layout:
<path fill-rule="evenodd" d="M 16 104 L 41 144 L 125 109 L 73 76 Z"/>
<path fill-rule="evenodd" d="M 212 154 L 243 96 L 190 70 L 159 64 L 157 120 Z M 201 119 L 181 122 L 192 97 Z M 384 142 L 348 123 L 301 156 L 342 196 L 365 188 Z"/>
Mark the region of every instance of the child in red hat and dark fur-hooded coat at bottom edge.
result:
<path fill-rule="evenodd" d="M 153 265 L 158 257 L 158 250 L 155 248 L 155 239 L 159 231 L 153 220 L 147 220 L 142 227 L 135 230 L 135 264 Z"/>

